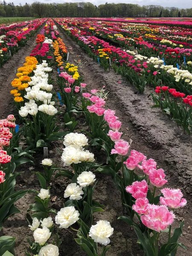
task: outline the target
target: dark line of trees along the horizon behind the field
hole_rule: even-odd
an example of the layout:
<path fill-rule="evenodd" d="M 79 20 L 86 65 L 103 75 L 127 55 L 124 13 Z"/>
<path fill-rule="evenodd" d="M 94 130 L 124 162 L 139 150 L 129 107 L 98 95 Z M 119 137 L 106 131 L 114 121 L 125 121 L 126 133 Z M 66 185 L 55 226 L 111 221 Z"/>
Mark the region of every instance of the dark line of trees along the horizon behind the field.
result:
<path fill-rule="evenodd" d="M 192 17 L 192 8 L 131 3 L 41 3 L 17 5 L 0 1 L 0 17 Z"/>

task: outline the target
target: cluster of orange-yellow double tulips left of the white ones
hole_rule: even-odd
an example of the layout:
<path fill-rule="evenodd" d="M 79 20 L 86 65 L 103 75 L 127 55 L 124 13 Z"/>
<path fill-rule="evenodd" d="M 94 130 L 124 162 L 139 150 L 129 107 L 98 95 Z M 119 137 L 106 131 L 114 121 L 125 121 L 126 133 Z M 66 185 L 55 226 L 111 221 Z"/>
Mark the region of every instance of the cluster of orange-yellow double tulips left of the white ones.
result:
<path fill-rule="evenodd" d="M 23 64 L 23 67 L 19 67 L 17 69 L 18 73 L 16 74 L 17 78 L 15 78 L 11 84 L 15 89 L 11 90 L 10 93 L 15 96 L 14 100 L 15 102 L 22 102 L 23 97 L 20 97 L 21 93 L 18 91 L 25 90 L 29 86 L 27 82 L 31 81 L 30 73 L 36 68 L 36 65 L 38 64 L 38 61 L 35 57 L 28 56 L 25 58 L 25 63 Z M 23 83 L 22 83 L 23 82 Z M 16 89 L 17 88 L 17 89 Z"/>

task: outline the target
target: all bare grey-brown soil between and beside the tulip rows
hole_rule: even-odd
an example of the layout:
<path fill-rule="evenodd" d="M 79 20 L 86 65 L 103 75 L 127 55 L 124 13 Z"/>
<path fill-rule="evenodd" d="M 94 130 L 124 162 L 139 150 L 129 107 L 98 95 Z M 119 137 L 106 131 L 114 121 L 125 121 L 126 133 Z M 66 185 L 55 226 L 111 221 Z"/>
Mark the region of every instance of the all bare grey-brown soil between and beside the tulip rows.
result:
<path fill-rule="evenodd" d="M 3 95 L 3 102 L 1 104 L 0 117 L 4 118 L 8 114 L 15 112 L 15 106 L 10 96 L 11 81 L 15 78 L 14 70 L 17 70 L 25 60 L 25 57 L 30 54 L 34 44 L 35 38 L 31 38 L 25 49 L 15 54 L 3 68 L 0 69 L 0 90 Z M 137 93 L 133 87 L 122 79 L 122 77 L 113 70 L 105 72 L 92 58 L 90 58 L 78 44 L 61 32 L 61 38 L 70 50 L 69 62 L 75 64 L 75 60 L 81 60 L 79 72 L 84 78 L 84 82 L 88 84 L 89 89 L 101 89 L 106 86 L 109 91 L 107 107 L 116 110 L 116 115 L 122 121 L 122 131 L 125 131 L 124 139 L 133 140 L 131 149 L 136 149 L 144 153 L 148 158 L 154 158 L 158 166 L 163 168 L 166 172 L 169 186 L 180 188 L 188 201 L 188 206 L 177 210 L 175 227 L 178 226 L 180 220 L 185 220 L 185 227 L 183 228 L 183 236 L 180 241 L 186 244 L 189 248 L 187 251 L 179 250 L 178 256 L 192 256 L 192 212 L 191 212 L 191 197 L 192 192 L 192 148 L 191 137 L 183 134 L 180 127 L 169 121 L 166 116 L 160 112 L 160 109 L 151 108 L 153 102 L 148 95 L 151 92 L 150 88 L 146 88 L 143 95 Z M 54 73 L 54 78 L 56 74 Z M 118 83 L 120 82 L 120 83 Z M 55 89 L 58 86 L 55 82 Z M 63 107 L 60 107 L 61 109 Z M 82 116 L 79 119 L 78 129 L 86 129 L 83 124 Z M 60 122 L 63 122 L 62 116 L 59 117 Z M 62 150 L 62 142 L 52 143 L 52 148 L 49 150 L 49 157 L 59 166 L 62 166 L 58 147 Z M 101 152 L 95 152 L 99 162 L 105 161 L 105 156 Z M 42 170 L 41 160 L 44 158 L 43 154 L 35 154 L 35 167 L 23 165 L 21 170 L 23 174 L 17 178 L 17 189 L 36 189 L 40 186 L 32 171 Z M 33 169 L 35 168 L 35 169 Z M 125 215 L 121 203 L 119 191 L 113 185 L 111 177 L 102 174 L 96 174 L 98 183 L 94 193 L 94 199 L 106 206 L 105 212 L 94 215 L 94 221 L 105 219 L 111 222 L 114 228 L 114 234 L 111 237 L 111 250 L 108 252 L 110 256 L 142 256 L 143 252 L 136 244 L 137 237 L 134 231 L 130 229 L 122 221 L 117 218 L 120 215 Z M 52 201 L 52 207 L 60 209 L 63 207 L 65 201 L 63 195 L 64 190 L 69 183 L 65 178 L 53 179 L 51 184 L 51 198 L 57 196 L 55 201 Z M 17 236 L 16 255 L 24 256 L 24 250 L 28 246 L 26 237 L 32 238 L 32 231 L 29 230 L 26 221 L 27 209 L 30 204 L 34 203 L 34 195 L 26 195 L 25 198 L 20 199 L 16 206 L 22 211 L 20 214 L 10 217 L 4 224 L 1 235 Z M 62 244 L 60 247 L 60 255 L 78 255 L 84 256 L 85 253 L 81 251 L 79 246 L 74 241 L 75 234 L 70 229 L 61 229 L 60 235 Z M 163 240 L 162 240 L 163 241 Z"/>

